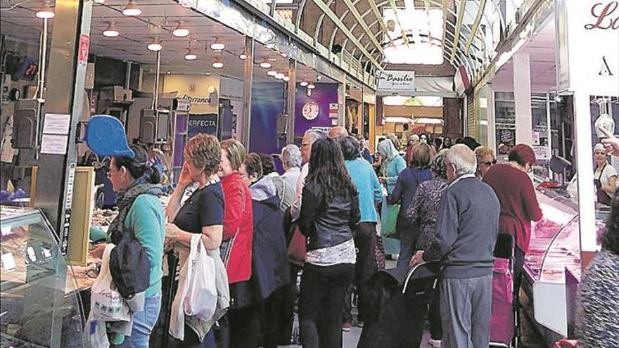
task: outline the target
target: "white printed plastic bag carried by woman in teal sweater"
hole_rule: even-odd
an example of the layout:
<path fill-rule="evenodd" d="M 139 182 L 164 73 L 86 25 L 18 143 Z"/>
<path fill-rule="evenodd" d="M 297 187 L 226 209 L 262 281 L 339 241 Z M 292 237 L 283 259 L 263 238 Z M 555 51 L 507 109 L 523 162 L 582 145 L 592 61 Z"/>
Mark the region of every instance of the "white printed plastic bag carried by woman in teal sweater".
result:
<path fill-rule="evenodd" d="M 110 273 L 110 252 L 115 247 L 106 245 L 101 260 L 101 273 L 91 288 L 90 309 L 92 318 L 102 321 L 130 321 L 129 306 L 116 289 Z"/>

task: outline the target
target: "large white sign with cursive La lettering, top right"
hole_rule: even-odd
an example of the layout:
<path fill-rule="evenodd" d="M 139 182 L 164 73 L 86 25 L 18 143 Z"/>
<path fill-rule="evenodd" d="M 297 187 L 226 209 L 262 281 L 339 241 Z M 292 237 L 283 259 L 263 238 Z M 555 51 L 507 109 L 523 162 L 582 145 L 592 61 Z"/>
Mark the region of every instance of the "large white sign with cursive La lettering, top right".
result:
<path fill-rule="evenodd" d="M 559 90 L 619 95 L 619 1 L 559 1 Z"/>

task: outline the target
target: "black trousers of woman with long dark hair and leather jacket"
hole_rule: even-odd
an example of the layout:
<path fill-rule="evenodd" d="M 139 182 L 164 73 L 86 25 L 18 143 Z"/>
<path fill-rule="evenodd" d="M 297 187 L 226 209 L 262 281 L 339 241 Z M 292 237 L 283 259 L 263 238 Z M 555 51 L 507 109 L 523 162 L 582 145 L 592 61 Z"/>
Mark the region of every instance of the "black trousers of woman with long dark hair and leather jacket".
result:
<path fill-rule="evenodd" d="M 299 326 L 303 348 L 342 347 L 342 309 L 355 278 L 353 264 L 305 264 L 299 292 Z"/>

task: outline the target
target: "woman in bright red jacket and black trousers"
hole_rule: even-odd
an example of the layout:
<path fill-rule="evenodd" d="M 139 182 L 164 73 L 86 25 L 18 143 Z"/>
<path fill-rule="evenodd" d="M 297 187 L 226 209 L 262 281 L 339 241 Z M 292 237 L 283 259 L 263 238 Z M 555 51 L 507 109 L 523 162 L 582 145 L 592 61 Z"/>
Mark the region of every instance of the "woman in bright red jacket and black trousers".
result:
<path fill-rule="evenodd" d="M 260 337 L 257 306 L 253 303 L 248 283 L 252 275 L 253 215 L 249 187 L 238 174 L 245 160 L 243 144 L 234 140 L 222 141 L 222 162 L 219 178 L 224 189 L 224 236 L 222 258 L 226 264 L 230 284 L 228 312 L 229 336 L 222 325 L 223 340 L 229 337 L 229 347 L 249 347 L 250 341 Z M 257 329 L 255 329 L 257 327 Z M 217 347 L 228 347 L 218 342 Z M 257 345 L 256 345 L 257 347 Z"/>

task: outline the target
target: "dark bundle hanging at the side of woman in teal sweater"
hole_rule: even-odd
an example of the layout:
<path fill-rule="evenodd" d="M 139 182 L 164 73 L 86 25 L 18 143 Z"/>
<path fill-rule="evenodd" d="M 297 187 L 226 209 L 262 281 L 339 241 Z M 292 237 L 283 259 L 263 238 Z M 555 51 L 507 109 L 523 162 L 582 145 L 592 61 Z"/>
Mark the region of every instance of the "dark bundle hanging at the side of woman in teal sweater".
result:
<path fill-rule="evenodd" d="M 110 273 L 118 292 L 125 298 L 151 286 L 151 261 L 133 231 L 125 230 L 110 252 Z"/>

